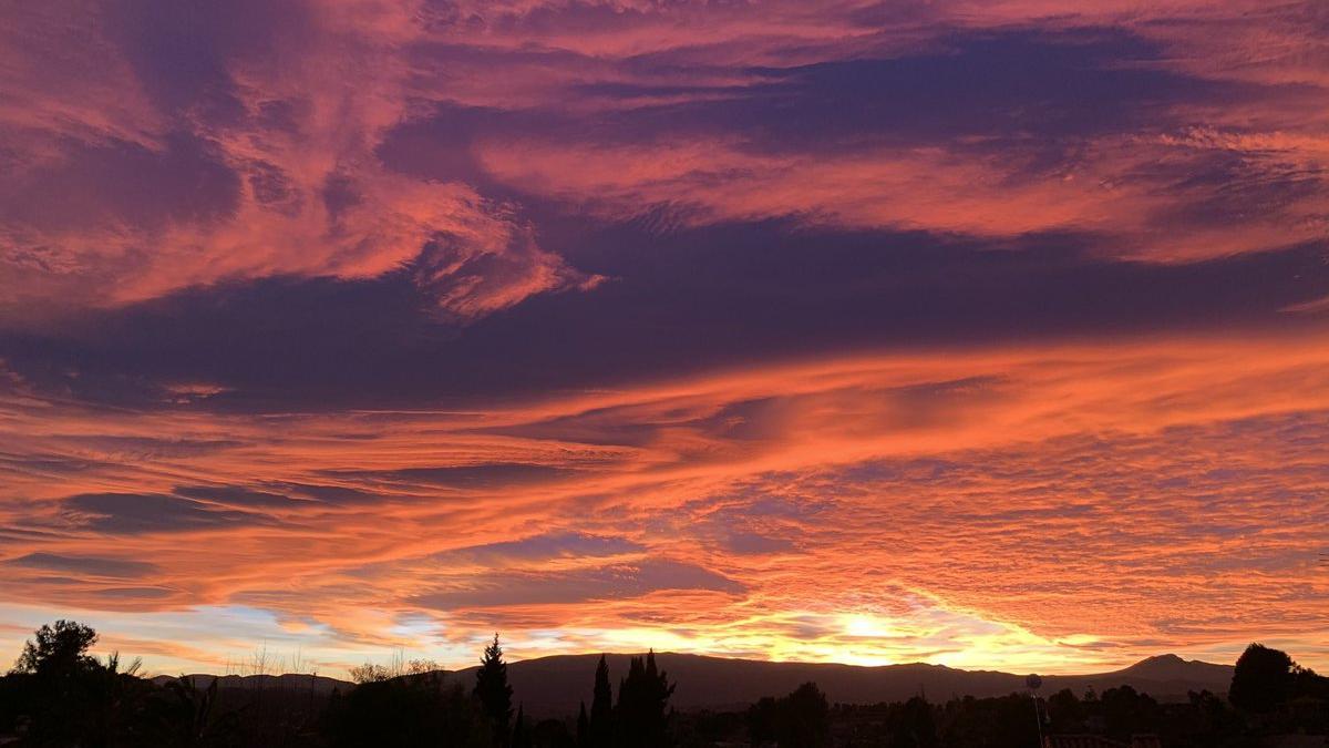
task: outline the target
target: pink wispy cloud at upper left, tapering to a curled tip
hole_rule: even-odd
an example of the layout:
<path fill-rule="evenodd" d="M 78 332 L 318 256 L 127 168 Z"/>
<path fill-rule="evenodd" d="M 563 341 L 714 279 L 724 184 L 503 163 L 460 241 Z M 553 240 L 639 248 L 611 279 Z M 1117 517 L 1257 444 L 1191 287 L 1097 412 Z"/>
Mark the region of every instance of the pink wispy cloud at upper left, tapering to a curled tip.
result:
<path fill-rule="evenodd" d="M 29 75 L 39 49 L 9 48 L 8 73 L 24 85 L 20 98 L 4 105 L 0 125 L 23 148 L 13 152 L 15 178 L 0 196 L 17 208 L 0 213 L 0 260 L 13 278 L 0 299 L 43 303 L 58 295 L 64 303 L 118 305 L 276 274 L 364 278 L 401 268 L 435 241 L 448 244 L 457 262 L 435 265 L 429 285 L 447 287 L 439 303 L 459 317 L 593 282 L 540 249 L 510 206 L 465 184 L 413 180 L 377 162 L 373 149 L 384 130 L 408 114 L 411 68 L 391 35 L 367 35 L 363 24 L 387 28 L 397 15 L 365 19 L 330 7 L 312 12 L 311 27 L 282 55 L 225 56 L 239 108 L 225 118 L 142 93 L 96 16 L 20 17 L 13 33 L 36 33 L 43 48 L 90 37 L 97 96 L 74 89 L 53 97 L 48 92 L 68 89 Z M 93 67 L 82 53 L 62 63 Z M 65 65 L 44 75 L 81 76 Z M 113 106 L 101 101 L 110 91 L 121 92 Z M 173 137 L 197 144 L 198 158 L 181 161 Z M 108 170 L 78 161 L 89 157 L 105 158 Z M 153 204 L 126 212 L 116 190 L 117 182 L 133 189 L 144 180 L 134 164 L 169 180 L 149 189 L 215 194 L 179 196 L 193 202 L 174 213 L 154 214 Z M 33 189 L 47 192 L 32 209 L 19 208 Z M 473 266 L 497 270 L 470 276 Z"/>

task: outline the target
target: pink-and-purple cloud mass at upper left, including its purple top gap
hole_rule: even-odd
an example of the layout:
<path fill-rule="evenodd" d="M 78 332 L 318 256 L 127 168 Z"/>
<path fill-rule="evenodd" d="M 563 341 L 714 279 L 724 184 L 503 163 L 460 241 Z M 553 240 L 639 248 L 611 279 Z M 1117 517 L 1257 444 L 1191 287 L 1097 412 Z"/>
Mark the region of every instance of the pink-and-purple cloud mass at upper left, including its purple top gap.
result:
<path fill-rule="evenodd" d="M 11 153 L 0 214 L 7 307 L 49 314 L 68 311 L 47 303 L 53 294 L 65 306 L 122 305 L 237 278 L 365 278 L 413 262 L 437 307 L 464 321 L 594 282 L 540 249 L 508 206 L 377 164 L 381 133 L 407 113 L 411 64 L 391 39 L 354 32 L 360 19 L 294 5 L 205 23 L 165 5 L 16 19 L 17 33 L 52 45 L 89 36 L 122 76 L 114 88 L 138 96 L 124 102 L 136 125 L 114 126 L 24 80 L 29 100 L 8 108 L 65 116 L 0 117 L 7 136 L 33 144 Z M 274 29 L 298 64 L 262 52 Z M 32 53 L 9 51 L 19 69 Z M 356 75 L 336 72 L 348 65 Z M 77 75 L 48 75 L 61 72 Z"/>

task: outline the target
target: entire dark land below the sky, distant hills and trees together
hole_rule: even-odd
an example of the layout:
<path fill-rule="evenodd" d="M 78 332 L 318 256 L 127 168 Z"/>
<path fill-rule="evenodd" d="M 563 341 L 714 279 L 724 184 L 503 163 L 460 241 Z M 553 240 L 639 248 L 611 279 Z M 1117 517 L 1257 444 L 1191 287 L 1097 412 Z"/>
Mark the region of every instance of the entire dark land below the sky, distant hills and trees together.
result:
<path fill-rule="evenodd" d="M 1235 665 L 1150 657 L 1116 672 L 1021 676 L 695 655 L 432 661 L 318 675 L 144 677 L 41 627 L 0 679 L 0 745 L 1322 747 L 1329 677 L 1251 644 Z"/>

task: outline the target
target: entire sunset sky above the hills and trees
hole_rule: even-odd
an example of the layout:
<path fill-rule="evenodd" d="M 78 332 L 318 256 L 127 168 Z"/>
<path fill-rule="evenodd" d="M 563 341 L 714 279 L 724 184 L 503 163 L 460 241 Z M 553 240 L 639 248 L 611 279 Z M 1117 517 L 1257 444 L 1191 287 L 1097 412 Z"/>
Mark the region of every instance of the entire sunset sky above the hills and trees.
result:
<path fill-rule="evenodd" d="M 0 657 L 1329 669 L 1324 3 L 0 12 Z"/>

